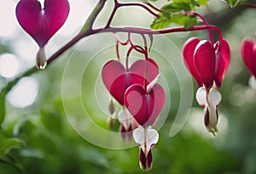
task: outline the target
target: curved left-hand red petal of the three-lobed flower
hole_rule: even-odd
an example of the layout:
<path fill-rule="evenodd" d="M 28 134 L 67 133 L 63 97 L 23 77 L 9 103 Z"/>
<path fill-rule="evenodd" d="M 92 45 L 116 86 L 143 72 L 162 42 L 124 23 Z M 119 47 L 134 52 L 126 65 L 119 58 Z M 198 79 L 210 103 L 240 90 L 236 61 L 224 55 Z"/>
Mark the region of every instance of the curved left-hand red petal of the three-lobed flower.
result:
<path fill-rule="evenodd" d="M 190 38 L 187 42 L 184 43 L 183 46 L 183 60 L 185 65 L 192 76 L 194 76 L 195 81 L 201 87 L 202 81 L 201 76 L 199 75 L 198 71 L 195 68 L 195 59 L 194 53 L 196 45 L 200 42 L 200 40 L 196 37 Z"/>

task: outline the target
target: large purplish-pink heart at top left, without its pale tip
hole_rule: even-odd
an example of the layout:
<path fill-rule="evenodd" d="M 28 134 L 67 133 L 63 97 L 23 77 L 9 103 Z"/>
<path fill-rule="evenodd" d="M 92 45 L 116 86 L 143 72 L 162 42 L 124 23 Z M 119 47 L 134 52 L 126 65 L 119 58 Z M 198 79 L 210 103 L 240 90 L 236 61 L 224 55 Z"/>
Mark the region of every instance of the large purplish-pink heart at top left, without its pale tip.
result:
<path fill-rule="evenodd" d="M 37 0 L 20 0 L 16 7 L 21 27 L 33 37 L 40 48 L 61 28 L 68 14 L 67 0 L 45 0 L 44 9 Z"/>

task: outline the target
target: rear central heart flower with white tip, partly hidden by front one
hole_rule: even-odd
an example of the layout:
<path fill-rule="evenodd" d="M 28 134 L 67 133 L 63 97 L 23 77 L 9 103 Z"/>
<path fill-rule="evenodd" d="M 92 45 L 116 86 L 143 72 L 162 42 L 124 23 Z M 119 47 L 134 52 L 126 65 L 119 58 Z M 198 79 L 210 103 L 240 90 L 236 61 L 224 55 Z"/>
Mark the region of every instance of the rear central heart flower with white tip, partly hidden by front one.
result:
<path fill-rule="evenodd" d="M 145 80 L 145 65 L 148 64 L 148 73 Z M 153 59 L 139 59 L 134 62 L 130 68 L 124 67 L 117 60 L 108 61 L 102 68 L 102 81 L 107 87 L 109 93 L 112 94 L 119 104 L 122 105 L 123 109 L 119 111 L 118 119 L 120 123 L 120 132 L 125 142 L 131 140 L 131 134 L 134 128 L 137 127 L 136 121 L 134 121 L 133 115 L 125 109 L 125 91 L 131 85 L 139 84 L 144 85 L 158 76 L 158 66 Z"/>

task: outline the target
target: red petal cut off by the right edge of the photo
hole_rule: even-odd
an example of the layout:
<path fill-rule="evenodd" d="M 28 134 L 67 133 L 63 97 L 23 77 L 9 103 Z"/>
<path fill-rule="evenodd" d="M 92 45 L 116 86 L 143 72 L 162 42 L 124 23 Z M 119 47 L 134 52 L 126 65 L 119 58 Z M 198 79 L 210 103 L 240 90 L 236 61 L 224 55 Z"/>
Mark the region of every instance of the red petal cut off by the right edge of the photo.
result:
<path fill-rule="evenodd" d="M 247 69 L 256 76 L 256 44 L 247 38 L 241 42 L 241 56 Z"/>

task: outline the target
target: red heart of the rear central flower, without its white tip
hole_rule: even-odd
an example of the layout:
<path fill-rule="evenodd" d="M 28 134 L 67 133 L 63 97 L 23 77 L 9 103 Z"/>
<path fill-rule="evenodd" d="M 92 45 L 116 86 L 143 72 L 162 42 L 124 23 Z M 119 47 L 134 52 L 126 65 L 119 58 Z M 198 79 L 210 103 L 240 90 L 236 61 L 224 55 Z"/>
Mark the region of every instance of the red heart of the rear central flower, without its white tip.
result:
<path fill-rule="evenodd" d="M 119 104 L 124 105 L 125 90 L 133 84 L 143 86 L 145 82 L 145 63 L 146 60 L 139 59 L 134 62 L 129 70 L 125 70 L 117 60 L 110 60 L 102 68 L 102 80 L 109 93 Z M 147 83 L 154 80 L 159 74 L 158 66 L 153 59 L 148 59 Z"/>

